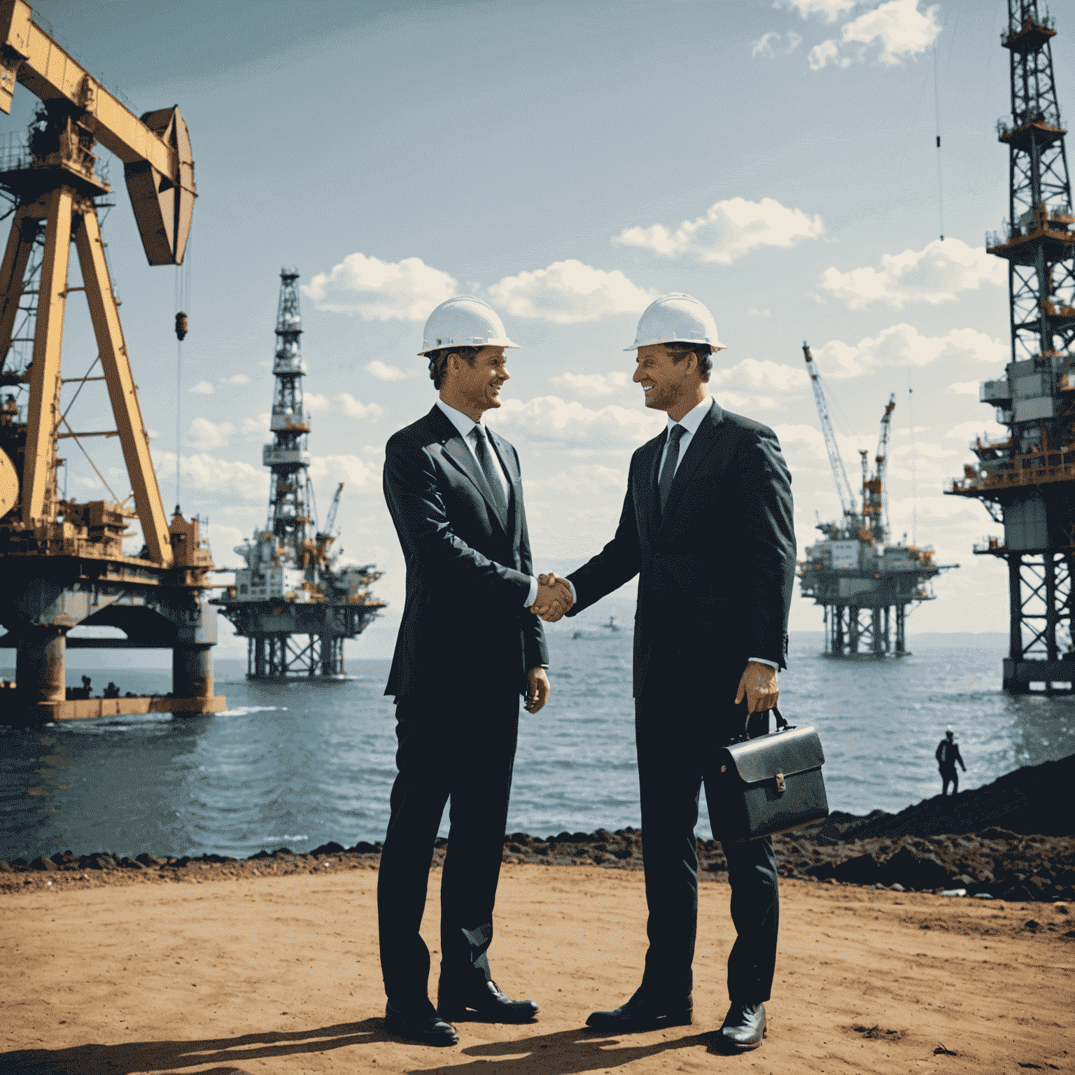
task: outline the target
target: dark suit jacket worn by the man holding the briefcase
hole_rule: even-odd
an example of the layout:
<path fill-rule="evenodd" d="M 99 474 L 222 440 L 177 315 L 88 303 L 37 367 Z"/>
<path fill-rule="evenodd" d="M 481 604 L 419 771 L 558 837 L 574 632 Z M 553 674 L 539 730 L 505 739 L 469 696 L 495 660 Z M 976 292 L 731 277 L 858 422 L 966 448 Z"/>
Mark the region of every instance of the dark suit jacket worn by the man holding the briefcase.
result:
<path fill-rule="evenodd" d="M 639 575 L 634 696 L 697 697 L 751 657 L 785 668 L 796 571 L 791 475 L 776 434 L 716 402 L 661 516 L 665 433 L 631 458 L 616 536 L 570 575 L 574 616 Z"/>

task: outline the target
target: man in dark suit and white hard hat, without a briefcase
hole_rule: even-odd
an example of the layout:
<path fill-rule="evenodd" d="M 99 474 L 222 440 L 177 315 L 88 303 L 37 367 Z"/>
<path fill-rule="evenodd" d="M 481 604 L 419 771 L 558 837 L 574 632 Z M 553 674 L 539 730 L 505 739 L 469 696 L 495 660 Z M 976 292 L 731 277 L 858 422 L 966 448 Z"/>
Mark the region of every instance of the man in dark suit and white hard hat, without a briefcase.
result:
<path fill-rule="evenodd" d="M 386 694 L 396 696 L 391 817 L 381 856 L 377 916 L 387 1023 L 433 1045 L 458 1041 L 468 1009 L 529 1020 L 486 955 L 500 875 L 518 734 L 519 694 L 536 713 L 548 698 L 548 650 L 528 608 L 539 597 L 519 457 L 486 428 L 508 378 L 507 339 L 479 299 L 430 314 L 420 354 L 440 399 L 385 449 L 385 500 L 406 560 L 406 603 Z M 428 997 L 429 949 L 419 934 L 433 843 L 450 800 L 441 882 L 438 1009 Z"/>

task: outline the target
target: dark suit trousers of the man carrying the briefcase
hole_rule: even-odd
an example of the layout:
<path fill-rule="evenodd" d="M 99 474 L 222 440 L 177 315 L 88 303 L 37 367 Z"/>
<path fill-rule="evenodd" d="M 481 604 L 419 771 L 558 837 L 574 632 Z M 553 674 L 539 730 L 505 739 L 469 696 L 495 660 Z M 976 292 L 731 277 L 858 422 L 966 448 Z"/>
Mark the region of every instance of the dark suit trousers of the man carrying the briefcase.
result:
<path fill-rule="evenodd" d="M 732 704 L 742 669 L 718 675 L 714 689 L 692 701 L 635 699 L 635 741 L 642 800 L 649 949 L 643 988 L 662 997 L 690 992 L 698 931 L 698 850 L 694 826 L 701 787 L 710 825 L 720 838 L 716 751 L 742 733 L 745 703 Z M 727 694 L 727 702 L 717 702 Z M 751 727 L 751 734 L 756 734 Z M 769 1000 L 776 965 L 779 893 L 770 838 L 722 841 L 731 883 L 735 943 L 728 957 L 728 995 Z"/>

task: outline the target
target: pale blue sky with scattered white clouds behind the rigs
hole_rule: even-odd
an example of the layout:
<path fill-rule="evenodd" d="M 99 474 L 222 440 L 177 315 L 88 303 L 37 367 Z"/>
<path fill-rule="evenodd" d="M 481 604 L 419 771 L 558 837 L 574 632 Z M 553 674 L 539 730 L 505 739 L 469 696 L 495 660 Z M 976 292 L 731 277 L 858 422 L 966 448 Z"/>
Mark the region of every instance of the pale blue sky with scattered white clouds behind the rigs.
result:
<path fill-rule="evenodd" d="M 164 503 L 176 501 L 178 412 L 178 499 L 209 519 L 218 565 L 236 565 L 233 547 L 264 525 L 278 274 L 301 273 L 321 516 L 345 482 L 343 562 L 384 571 L 376 593 L 388 602 L 349 656 L 388 656 L 395 642 L 404 565 L 381 488 L 384 445 L 435 399 L 416 353 L 426 316 L 455 293 L 486 299 L 521 345 L 486 418 L 519 450 L 539 569 L 570 571 L 612 536 L 631 453 L 663 425 L 624 348 L 654 298 L 686 291 L 728 347 L 714 396 L 779 435 L 800 555 L 817 521 L 840 514 L 808 341 L 852 483 L 894 393 L 893 534 L 960 564 L 908 633 L 1006 629 L 1004 564 L 972 555 L 999 526 L 942 492 L 972 436 L 1002 431 L 977 390 L 1009 349 L 1006 272 L 984 249 L 1007 207 L 994 126 L 1010 106 L 1003 0 L 34 10 L 135 113 L 177 103 L 190 131 L 188 264 L 146 264 L 114 160 L 103 232 Z M 1063 109 L 1075 106 L 1075 14 L 1057 15 Z M 25 131 L 33 103 L 18 87 L 0 133 Z M 95 354 L 70 301 L 64 376 Z M 91 387 L 76 429 L 101 428 L 106 397 Z M 75 454 L 69 496 L 108 498 Z M 99 439 L 91 455 L 123 497 L 118 445 Z M 631 593 L 594 615 L 628 607 Z M 220 627 L 218 656 L 240 656 Z M 797 592 L 791 629 L 820 628 L 821 610 Z"/>

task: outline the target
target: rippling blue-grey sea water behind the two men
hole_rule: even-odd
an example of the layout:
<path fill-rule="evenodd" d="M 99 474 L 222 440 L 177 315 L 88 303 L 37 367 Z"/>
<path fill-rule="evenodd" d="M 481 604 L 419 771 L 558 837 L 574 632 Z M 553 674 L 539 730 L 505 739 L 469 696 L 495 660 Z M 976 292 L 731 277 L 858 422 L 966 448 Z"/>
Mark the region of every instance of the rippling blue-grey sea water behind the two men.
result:
<path fill-rule="evenodd" d="M 549 635 L 553 698 L 521 716 L 508 831 L 636 826 L 630 633 Z M 933 751 L 948 723 L 964 788 L 1075 752 L 1075 702 L 1002 694 L 997 647 L 922 648 L 885 664 L 828 661 L 818 648 L 792 643 L 780 707 L 818 728 L 834 809 L 894 812 L 937 793 Z M 341 684 L 221 676 L 229 708 L 215 716 L 0 728 L 0 858 L 62 847 L 240 856 L 382 838 L 396 776 L 388 663 L 350 665 L 359 677 Z M 162 672 L 123 679 L 124 690 L 169 689 Z M 710 835 L 704 809 L 699 834 Z"/>

